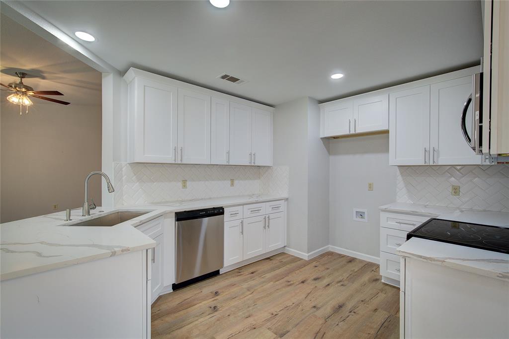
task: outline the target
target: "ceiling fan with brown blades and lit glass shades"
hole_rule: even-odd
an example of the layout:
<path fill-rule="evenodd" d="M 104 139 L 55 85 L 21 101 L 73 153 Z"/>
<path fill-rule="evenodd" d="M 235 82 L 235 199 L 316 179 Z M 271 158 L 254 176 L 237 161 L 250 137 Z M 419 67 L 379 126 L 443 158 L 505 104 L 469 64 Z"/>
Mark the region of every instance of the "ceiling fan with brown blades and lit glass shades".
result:
<path fill-rule="evenodd" d="M 2 90 L 11 90 L 12 93 L 7 97 L 7 100 L 9 100 L 11 103 L 19 105 L 19 114 L 21 115 L 21 107 L 26 106 L 26 113 L 29 112 L 29 106 L 32 106 L 34 103 L 32 100 L 30 100 L 30 97 L 34 97 L 37 99 L 47 100 L 51 101 L 57 104 L 62 105 L 69 105 L 69 102 L 62 101 L 62 100 L 56 100 L 53 98 L 46 98 L 42 97 L 41 95 L 46 96 L 63 96 L 62 93 L 60 93 L 58 90 L 34 90 L 34 88 L 25 85 L 23 83 L 23 79 L 26 77 L 26 73 L 24 72 L 16 72 L 16 76 L 19 78 L 19 82 L 11 82 L 9 85 L 4 85 L 3 83 L 0 83 L 0 85 L 7 87 L 9 89 L 2 89 Z"/>

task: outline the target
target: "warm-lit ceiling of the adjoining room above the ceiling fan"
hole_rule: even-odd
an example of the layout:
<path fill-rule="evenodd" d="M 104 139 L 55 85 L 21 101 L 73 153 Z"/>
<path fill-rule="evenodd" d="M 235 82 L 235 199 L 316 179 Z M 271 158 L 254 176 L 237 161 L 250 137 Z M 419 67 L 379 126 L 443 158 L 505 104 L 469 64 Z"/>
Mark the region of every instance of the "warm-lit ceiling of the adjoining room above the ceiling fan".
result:
<path fill-rule="evenodd" d="M 17 82 L 17 71 L 27 73 L 24 83 L 35 90 L 58 90 L 64 96 L 48 96 L 73 105 L 101 105 L 101 73 L 62 49 L 2 15 L 0 18 L 0 65 L 3 84 Z M 5 87 L 2 87 L 5 88 Z M 2 101 L 9 91 L 2 91 Z M 33 99 L 34 104 L 59 105 Z"/>

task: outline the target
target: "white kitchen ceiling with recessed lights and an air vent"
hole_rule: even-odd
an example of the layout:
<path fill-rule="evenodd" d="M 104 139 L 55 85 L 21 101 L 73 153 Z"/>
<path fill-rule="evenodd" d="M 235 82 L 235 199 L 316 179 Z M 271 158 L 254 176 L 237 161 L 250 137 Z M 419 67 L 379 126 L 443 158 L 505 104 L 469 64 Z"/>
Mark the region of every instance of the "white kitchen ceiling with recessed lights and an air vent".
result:
<path fill-rule="evenodd" d="M 125 72 L 131 66 L 276 105 L 320 101 L 473 66 L 479 1 L 29 1 Z M 216 79 L 228 72 L 249 82 Z M 341 72 L 345 77 L 330 79 Z"/>

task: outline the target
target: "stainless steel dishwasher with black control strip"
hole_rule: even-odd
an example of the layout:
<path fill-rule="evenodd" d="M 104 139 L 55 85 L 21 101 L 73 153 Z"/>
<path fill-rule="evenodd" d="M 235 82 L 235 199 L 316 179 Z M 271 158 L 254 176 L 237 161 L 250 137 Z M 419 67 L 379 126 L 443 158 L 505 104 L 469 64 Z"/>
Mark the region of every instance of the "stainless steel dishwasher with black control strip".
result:
<path fill-rule="evenodd" d="M 173 289 L 219 274 L 223 267 L 224 208 L 177 212 L 175 223 Z"/>

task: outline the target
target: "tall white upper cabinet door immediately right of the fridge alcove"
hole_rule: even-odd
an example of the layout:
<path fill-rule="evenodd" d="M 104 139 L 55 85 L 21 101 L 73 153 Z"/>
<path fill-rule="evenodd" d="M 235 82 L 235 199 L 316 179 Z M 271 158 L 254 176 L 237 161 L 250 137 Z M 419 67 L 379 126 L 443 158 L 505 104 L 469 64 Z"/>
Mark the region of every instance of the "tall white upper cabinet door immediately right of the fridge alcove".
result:
<path fill-rule="evenodd" d="M 430 86 L 391 93 L 389 121 L 389 164 L 429 164 Z"/>

